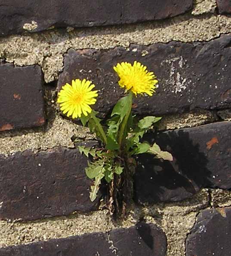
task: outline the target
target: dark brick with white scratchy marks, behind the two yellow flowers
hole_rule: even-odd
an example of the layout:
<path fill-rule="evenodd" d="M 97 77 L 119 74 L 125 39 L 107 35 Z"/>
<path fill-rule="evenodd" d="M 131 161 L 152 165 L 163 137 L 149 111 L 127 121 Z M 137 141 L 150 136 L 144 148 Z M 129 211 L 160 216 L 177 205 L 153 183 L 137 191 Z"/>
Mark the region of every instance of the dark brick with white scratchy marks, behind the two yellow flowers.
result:
<path fill-rule="evenodd" d="M 164 115 L 198 108 L 228 108 L 231 106 L 230 43 L 231 35 L 224 35 L 202 43 L 133 45 L 129 51 L 122 47 L 69 50 L 59 88 L 74 78 L 88 78 L 100 89 L 95 108 L 108 112 L 124 91 L 117 84 L 113 66 L 117 62 L 138 60 L 155 72 L 159 88 L 153 97 L 139 97 L 134 111 Z"/>

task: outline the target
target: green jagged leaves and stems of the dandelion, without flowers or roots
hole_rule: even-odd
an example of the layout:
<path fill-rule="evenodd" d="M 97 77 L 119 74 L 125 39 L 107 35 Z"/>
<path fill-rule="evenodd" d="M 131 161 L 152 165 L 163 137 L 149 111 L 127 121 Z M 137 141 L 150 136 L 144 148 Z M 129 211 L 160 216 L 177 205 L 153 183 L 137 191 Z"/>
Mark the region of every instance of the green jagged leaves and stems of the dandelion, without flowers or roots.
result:
<path fill-rule="evenodd" d="M 87 117 L 81 117 L 82 124 L 85 126 L 88 123 L 90 131 L 95 132 L 102 141 L 100 150 L 78 146 L 81 154 L 92 157 L 92 161 L 88 162 L 86 168 L 87 177 L 94 180 L 90 191 L 92 201 L 97 197 L 102 179 L 110 183 L 115 175 L 123 174 L 125 166 L 121 163 L 124 163 L 125 159 L 132 159 L 132 155 L 150 153 L 155 158 L 169 161 L 173 159 L 170 153 L 162 151 L 156 143 L 151 146 L 148 142 L 140 142 L 143 135 L 161 118 L 146 116 L 136 121 L 131 110 L 132 94 L 130 93 L 114 106 L 111 118 L 106 122 L 107 129 L 102 127 L 101 120 L 96 117 L 95 111 Z M 129 162 L 126 166 L 129 168 Z"/>

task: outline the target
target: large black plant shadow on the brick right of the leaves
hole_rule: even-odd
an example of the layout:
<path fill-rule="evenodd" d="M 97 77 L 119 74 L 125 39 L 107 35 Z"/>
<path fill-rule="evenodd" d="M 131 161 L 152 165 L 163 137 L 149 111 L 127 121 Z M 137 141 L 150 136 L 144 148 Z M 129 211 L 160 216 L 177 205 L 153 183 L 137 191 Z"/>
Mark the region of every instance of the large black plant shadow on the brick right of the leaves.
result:
<path fill-rule="evenodd" d="M 185 130 L 149 133 L 145 139 L 160 144 L 172 153 L 173 161 L 137 156 L 135 201 L 139 203 L 176 202 L 197 193 L 210 184 L 207 157 Z"/>

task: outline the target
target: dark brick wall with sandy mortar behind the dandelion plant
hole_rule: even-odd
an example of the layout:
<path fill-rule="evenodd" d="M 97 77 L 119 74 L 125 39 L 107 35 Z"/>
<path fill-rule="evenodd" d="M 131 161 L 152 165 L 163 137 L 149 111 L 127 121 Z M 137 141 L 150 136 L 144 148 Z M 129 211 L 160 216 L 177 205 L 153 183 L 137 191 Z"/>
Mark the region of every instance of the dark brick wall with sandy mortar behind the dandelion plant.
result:
<path fill-rule="evenodd" d="M 230 255 L 231 2 L 0 0 L 0 23 L 0 256 Z M 88 78 L 104 117 L 123 94 L 112 67 L 134 60 L 159 87 L 133 111 L 164 116 L 145 139 L 174 161 L 137 158 L 114 222 L 74 145 L 95 137 L 56 95 Z"/>

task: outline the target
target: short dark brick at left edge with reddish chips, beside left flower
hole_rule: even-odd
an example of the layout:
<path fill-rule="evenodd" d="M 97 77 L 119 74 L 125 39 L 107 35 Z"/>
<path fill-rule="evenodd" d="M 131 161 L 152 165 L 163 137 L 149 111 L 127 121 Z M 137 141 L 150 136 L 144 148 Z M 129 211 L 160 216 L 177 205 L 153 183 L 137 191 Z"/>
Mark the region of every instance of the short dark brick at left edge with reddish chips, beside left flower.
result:
<path fill-rule="evenodd" d="M 0 131 L 43 125 L 43 76 L 40 67 L 0 64 L 0 78 Z"/>

